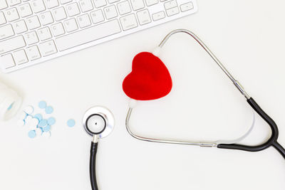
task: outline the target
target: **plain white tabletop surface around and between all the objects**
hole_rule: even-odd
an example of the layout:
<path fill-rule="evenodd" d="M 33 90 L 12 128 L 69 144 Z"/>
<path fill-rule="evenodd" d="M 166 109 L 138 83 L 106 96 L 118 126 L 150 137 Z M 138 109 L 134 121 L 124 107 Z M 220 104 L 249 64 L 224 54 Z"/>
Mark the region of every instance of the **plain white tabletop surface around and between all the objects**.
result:
<path fill-rule="evenodd" d="M 285 161 L 274 148 L 242 152 L 133 139 L 125 130 L 128 97 L 121 83 L 136 53 L 152 51 L 176 28 L 197 33 L 259 105 L 279 125 L 285 146 L 285 1 L 199 0 L 197 14 L 56 58 L 8 75 L 24 105 L 46 100 L 54 107 L 51 139 L 28 139 L 15 120 L 0 122 L 0 189 L 90 189 L 90 137 L 81 118 L 93 105 L 115 115 L 116 126 L 100 141 L 100 189 L 284 189 Z M 161 55 L 173 79 L 172 92 L 140 102 L 133 129 L 151 137 L 232 139 L 247 131 L 252 110 L 195 41 L 177 34 Z M 68 128 L 66 121 L 76 120 Z M 244 140 L 269 137 L 258 118 Z"/>

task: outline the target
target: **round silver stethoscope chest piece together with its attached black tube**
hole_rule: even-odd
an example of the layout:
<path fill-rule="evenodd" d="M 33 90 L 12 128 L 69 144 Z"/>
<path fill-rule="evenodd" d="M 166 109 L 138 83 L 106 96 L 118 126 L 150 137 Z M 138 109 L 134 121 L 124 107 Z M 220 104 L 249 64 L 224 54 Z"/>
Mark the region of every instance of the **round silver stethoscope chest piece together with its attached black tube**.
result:
<path fill-rule="evenodd" d="M 93 137 L 90 148 L 90 183 L 93 190 L 98 190 L 96 180 L 96 154 L 98 141 L 107 137 L 114 128 L 115 120 L 112 112 L 105 107 L 95 106 L 86 111 L 83 116 L 83 127 L 87 134 Z"/>

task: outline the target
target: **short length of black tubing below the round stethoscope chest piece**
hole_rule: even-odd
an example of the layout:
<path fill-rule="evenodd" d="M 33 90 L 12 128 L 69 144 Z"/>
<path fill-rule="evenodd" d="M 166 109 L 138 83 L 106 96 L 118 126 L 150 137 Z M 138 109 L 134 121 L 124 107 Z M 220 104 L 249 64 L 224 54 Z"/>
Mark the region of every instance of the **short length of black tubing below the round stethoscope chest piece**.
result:
<path fill-rule="evenodd" d="M 97 180 L 96 180 L 96 154 L 98 149 L 98 142 L 91 142 L 90 148 L 90 182 L 92 190 L 98 190 Z"/>

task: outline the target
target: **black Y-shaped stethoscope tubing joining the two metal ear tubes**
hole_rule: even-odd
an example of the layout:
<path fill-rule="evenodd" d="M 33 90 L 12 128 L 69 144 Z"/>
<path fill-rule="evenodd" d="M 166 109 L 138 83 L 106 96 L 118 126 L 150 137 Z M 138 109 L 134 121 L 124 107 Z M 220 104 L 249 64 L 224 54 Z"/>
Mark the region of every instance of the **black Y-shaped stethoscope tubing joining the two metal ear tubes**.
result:
<path fill-rule="evenodd" d="M 250 97 L 247 102 L 269 124 L 271 128 L 271 137 L 263 144 L 259 144 L 257 146 L 248 146 L 243 144 L 218 144 L 217 147 L 221 149 L 239 149 L 249 152 L 258 152 L 273 146 L 285 159 L 285 149 L 279 144 L 279 142 L 277 142 L 279 131 L 274 120 L 272 120 L 271 117 L 269 117 L 269 115 L 267 115 L 266 112 L 259 107 L 257 102 L 255 102 L 252 97 Z"/>

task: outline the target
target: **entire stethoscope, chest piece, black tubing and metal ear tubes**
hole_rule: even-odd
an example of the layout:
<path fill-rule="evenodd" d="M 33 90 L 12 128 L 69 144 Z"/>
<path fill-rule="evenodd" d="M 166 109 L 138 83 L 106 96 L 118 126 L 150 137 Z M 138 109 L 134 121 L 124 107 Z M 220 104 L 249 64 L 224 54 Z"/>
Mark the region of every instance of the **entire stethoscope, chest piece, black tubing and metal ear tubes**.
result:
<path fill-rule="evenodd" d="M 167 143 L 167 144 L 187 144 L 187 145 L 198 145 L 200 147 L 217 147 L 221 149 L 239 149 L 249 152 L 258 152 L 264 150 L 268 147 L 274 147 L 278 152 L 284 157 L 285 159 L 285 149 L 282 147 L 278 139 L 278 128 L 274 120 L 269 117 L 269 115 L 264 112 L 264 110 L 259 107 L 257 102 L 254 101 L 252 97 L 244 90 L 242 85 L 234 79 L 234 77 L 229 73 L 227 68 L 222 65 L 222 63 L 217 59 L 216 56 L 207 48 L 207 46 L 191 31 L 187 31 L 185 29 L 175 30 L 167 34 L 167 36 L 162 40 L 158 48 L 155 49 L 153 52 L 155 56 L 159 55 L 161 48 L 165 45 L 166 41 L 175 33 L 187 33 L 204 48 L 209 56 L 219 65 L 219 67 L 224 71 L 224 73 L 229 77 L 230 80 L 234 83 L 236 88 L 239 90 L 242 95 L 247 99 L 249 105 L 257 112 L 260 117 L 265 120 L 269 127 L 271 128 L 271 137 L 269 139 L 257 146 L 249 146 L 244 144 L 238 144 L 242 139 L 248 136 L 250 132 L 252 132 L 252 128 L 254 127 L 255 116 L 253 117 L 252 126 L 249 128 L 246 134 L 244 134 L 239 139 L 234 139 L 232 141 L 216 141 L 216 142 L 192 142 L 192 141 L 182 141 L 182 140 L 170 140 L 170 139 L 158 139 L 158 138 L 150 138 L 150 137 L 143 137 L 142 135 L 135 134 L 130 128 L 130 116 L 135 108 L 137 100 L 130 100 L 129 110 L 127 117 L 125 119 L 125 126 L 130 133 L 131 136 L 135 137 L 136 139 L 140 139 L 147 142 L 160 142 L 160 143 Z M 89 110 L 86 111 L 85 115 L 83 116 L 83 127 L 86 132 L 93 137 L 93 141 L 91 142 L 91 149 L 90 149 L 90 183 L 93 190 L 98 190 L 98 184 L 96 180 L 95 174 L 95 161 L 96 161 L 96 153 L 98 149 L 98 139 L 107 137 L 110 132 L 112 132 L 114 128 L 114 117 L 113 114 L 105 107 L 91 107 Z"/>

